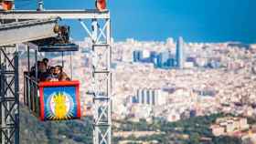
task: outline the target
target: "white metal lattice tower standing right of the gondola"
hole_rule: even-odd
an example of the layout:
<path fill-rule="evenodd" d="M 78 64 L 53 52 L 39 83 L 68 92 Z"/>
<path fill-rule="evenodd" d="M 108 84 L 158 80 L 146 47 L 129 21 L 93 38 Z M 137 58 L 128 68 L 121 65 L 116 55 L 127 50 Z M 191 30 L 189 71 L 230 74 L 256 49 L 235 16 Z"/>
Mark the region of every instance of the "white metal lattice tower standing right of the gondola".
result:
<path fill-rule="evenodd" d="M 102 23 L 102 24 L 101 24 Z M 101 28 L 102 25 L 102 28 Z M 112 143 L 111 21 L 92 20 L 94 144 Z"/>

